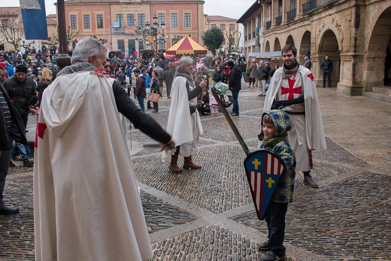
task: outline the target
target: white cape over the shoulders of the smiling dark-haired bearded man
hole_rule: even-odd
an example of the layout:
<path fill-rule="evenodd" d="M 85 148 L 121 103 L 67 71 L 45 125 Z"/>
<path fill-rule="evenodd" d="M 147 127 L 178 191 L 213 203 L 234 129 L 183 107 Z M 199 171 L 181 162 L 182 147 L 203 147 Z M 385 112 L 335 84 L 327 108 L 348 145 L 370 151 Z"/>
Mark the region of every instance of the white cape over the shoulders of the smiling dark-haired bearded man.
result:
<path fill-rule="evenodd" d="M 271 79 L 269 89 L 265 97 L 264 112 L 270 110 L 277 92 L 281 92 L 282 70 L 280 67 L 274 72 Z M 320 113 L 319 102 L 316 93 L 316 85 L 314 76 L 308 68 L 299 66 L 296 77 L 302 77 L 304 89 L 304 104 L 305 104 L 305 130 L 307 136 L 308 149 L 325 149 L 326 140 L 323 131 L 322 116 Z M 283 109 L 282 109 L 283 110 Z M 289 133 L 289 132 L 288 132 Z M 258 148 L 261 141 L 258 143 Z"/>

